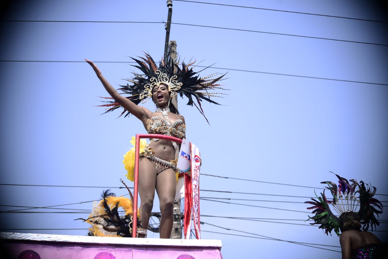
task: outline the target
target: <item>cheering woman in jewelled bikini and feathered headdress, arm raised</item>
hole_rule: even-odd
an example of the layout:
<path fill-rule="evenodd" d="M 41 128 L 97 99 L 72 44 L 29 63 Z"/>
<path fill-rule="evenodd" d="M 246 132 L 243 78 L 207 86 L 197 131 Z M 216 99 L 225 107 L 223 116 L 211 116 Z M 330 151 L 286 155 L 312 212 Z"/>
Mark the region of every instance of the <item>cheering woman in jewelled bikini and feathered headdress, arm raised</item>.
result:
<path fill-rule="evenodd" d="M 87 63 L 94 69 L 106 91 L 111 95 L 103 107 L 108 107 L 107 112 L 117 108 L 124 108 L 121 115 L 125 117 L 129 114 L 135 115 L 144 125 L 149 134 L 164 134 L 177 138 L 185 137 L 185 119 L 178 113 L 177 107 L 171 103 L 171 98 L 179 94 L 189 99 L 187 105 L 195 105 L 204 116 L 201 101 L 209 101 L 218 104 L 210 99 L 211 96 L 218 96 L 219 93 L 209 93 L 208 90 L 223 89 L 219 84 L 215 84 L 225 75 L 212 74 L 208 77 L 200 78 L 189 66 L 194 63 L 179 67 L 178 61 L 161 61 L 156 65 L 151 56 L 145 53 L 145 58 L 132 58 L 136 61 L 141 73 L 133 73 L 132 79 L 127 79 L 126 86 L 121 86 L 118 90 L 105 79 L 97 66 L 87 59 Z M 128 94 L 129 96 L 125 96 Z M 151 112 L 138 104 L 152 99 L 156 105 L 156 111 Z M 194 102 L 196 101 L 196 102 Z M 120 115 L 120 116 L 121 116 Z M 205 117 L 206 119 L 206 117 Z M 207 121 L 207 119 L 206 119 Z M 149 145 L 143 144 L 144 149 L 140 149 L 139 159 L 139 195 L 140 195 L 140 219 L 144 229 L 147 229 L 153 201 L 156 193 L 159 197 L 161 219 L 160 238 L 170 238 L 173 225 L 173 202 L 176 189 L 176 174 L 179 169 L 176 167 L 177 158 L 175 151 L 178 149 L 176 142 L 169 140 L 159 140 L 153 138 Z M 133 155 L 134 156 L 134 155 Z M 123 161 L 128 170 L 127 178 L 133 181 L 133 162 Z M 130 168 L 130 169 L 128 169 Z M 144 237 L 145 235 L 139 235 Z"/>

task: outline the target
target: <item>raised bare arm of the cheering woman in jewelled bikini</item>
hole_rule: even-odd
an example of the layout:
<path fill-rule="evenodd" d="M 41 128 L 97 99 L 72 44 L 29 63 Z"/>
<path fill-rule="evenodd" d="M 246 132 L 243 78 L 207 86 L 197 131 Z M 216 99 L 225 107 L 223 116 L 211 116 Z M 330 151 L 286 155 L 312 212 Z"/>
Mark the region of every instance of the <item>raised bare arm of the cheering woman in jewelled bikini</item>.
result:
<path fill-rule="evenodd" d="M 151 116 L 151 111 L 149 111 L 147 108 L 144 108 L 142 106 L 136 105 L 132 101 L 128 100 L 121 94 L 119 94 L 116 89 L 105 79 L 105 77 L 102 75 L 99 68 L 90 60 L 85 59 L 85 61 L 92 66 L 94 72 L 96 73 L 97 77 L 100 79 L 102 85 L 105 87 L 106 91 L 109 93 L 112 98 L 120 103 L 125 110 L 135 115 L 140 121 L 144 122 L 146 119 L 148 119 Z"/>

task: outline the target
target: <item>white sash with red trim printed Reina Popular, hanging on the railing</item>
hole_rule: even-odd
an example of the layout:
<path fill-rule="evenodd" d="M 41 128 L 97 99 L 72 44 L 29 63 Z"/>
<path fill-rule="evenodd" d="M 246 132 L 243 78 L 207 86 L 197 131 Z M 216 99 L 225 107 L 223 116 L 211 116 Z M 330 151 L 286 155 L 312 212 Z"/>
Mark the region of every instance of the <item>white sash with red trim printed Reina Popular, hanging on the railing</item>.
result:
<path fill-rule="evenodd" d="M 199 169 L 201 154 L 199 149 L 190 142 L 191 170 L 185 173 L 185 210 L 183 230 L 185 239 L 190 238 L 191 224 L 194 221 L 194 230 L 197 239 L 201 239 L 199 218 Z"/>

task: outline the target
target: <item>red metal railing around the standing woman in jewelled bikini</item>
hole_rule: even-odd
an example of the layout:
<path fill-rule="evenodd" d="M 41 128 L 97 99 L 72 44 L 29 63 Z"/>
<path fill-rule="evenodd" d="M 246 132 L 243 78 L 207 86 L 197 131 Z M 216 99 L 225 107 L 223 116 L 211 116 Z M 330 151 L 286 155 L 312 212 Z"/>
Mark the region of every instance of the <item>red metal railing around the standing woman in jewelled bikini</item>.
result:
<path fill-rule="evenodd" d="M 139 191 L 139 149 L 140 149 L 140 138 L 159 138 L 165 140 L 171 140 L 182 144 L 182 140 L 180 138 L 175 138 L 168 135 L 162 134 L 136 134 L 136 143 L 135 143 L 135 171 L 134 176 L 135 179 L 133 181 L 133 224 L 132 224 L 132 237 L 136 237 L 137 231 L 137 195 Z"/>

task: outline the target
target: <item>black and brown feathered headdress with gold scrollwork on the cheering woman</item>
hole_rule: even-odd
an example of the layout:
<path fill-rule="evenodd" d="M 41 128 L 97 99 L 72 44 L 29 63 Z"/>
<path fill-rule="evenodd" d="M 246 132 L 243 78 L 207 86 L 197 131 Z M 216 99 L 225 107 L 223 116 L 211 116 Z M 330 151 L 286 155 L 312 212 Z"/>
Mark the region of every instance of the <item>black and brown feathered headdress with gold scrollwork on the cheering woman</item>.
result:
<path fill-rule="evenodd" d="M 133 73 L 135 77 L 126 79 L 132 84 L 127 84 L 118 89 L 123 91 L 124 94 L 130 94 L 130 96 L 126 97 L 128 100 L 133 101 L 135 104 L 139 104 L 140 102 L 145 103 L 152 98 L 152 88 L 154 86 L 165 84 L 168 86 L 171 97 L 177 96 L 177 94 L 182 98 L 183 96 L 186 96 L 189 99 L 187 105 L 195 105 L 204 117 L 205 115 L 201 107 L 201 101 L 205 100 L 219 105 L 216 101 L 211 100 L 211 97 L 221 97 L 219 94 L 223 93 L 210 93 L 208 91 L 213 91 L 215 89 L 227 90 L 219 87 L 221 86 L 220 84 L 216 84 L 216 82 L 223 80 L 222 77 L 225 76 L 225 74 L 213 73 L 206 77 L 199 77 L 198 73 L 206 68 L 199 72 L 194 72 L 192 68 L 189 67 L 193 65 L 195 61 L 188 65 L 182 61 L 182 67 L 179 67 L 179 59 L 177 61 L 172 61 L 169 58 L 167 62 L 162 59 L 159 66 L 157 66 L 154 59 L 152 59 L 149 54 L 144 54 L 145 58 L 139 57 L 141 60 L 132 58 L 137 63 L 137 65 L 133 66 L 139 68 L 141 73 Z M 112 99 L 111 97 L 103 98 Z M 111 112 L 121 107 L 121 105 L 115 101 L 108 102 L 109 104 L 98 105 L 109 107 L 104 113 Z M 124 110 L 120 116 L 123 114 L 125 114 L 124 117 L 126 117 L 130 112 Z"/>

